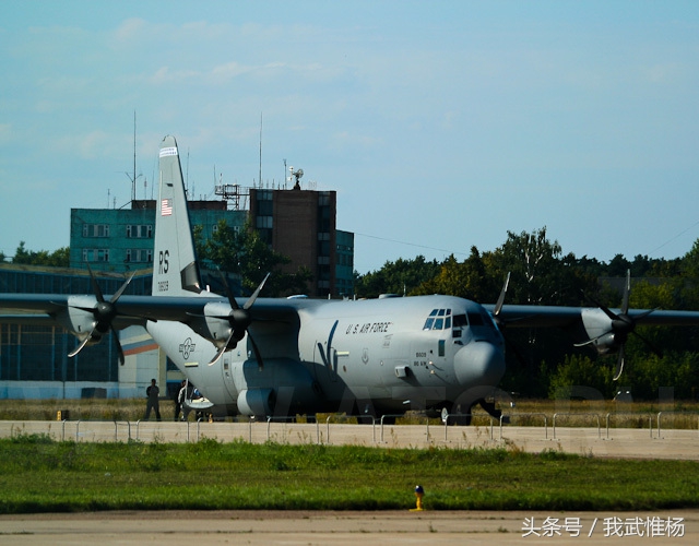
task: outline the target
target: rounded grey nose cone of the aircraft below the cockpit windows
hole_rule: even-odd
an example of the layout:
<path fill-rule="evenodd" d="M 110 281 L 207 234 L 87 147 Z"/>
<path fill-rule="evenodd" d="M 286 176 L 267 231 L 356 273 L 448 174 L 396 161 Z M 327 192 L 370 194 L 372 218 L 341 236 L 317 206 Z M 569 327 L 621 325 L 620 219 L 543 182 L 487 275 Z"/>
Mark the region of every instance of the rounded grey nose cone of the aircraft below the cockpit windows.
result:
<path fill-rule="evenodd" d="M 454 371 L 463 387 L 497 385 L 505 375 L 505 354 L 489 342 L 473 342 L 454 355 Z"/>

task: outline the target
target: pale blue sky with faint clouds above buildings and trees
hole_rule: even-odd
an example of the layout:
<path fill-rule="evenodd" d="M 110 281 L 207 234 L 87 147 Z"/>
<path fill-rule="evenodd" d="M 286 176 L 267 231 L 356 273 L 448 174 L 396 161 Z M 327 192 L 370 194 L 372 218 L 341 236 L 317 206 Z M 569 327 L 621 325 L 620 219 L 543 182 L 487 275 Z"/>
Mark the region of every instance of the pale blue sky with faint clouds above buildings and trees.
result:
<path fill-rule="evenodd" d="M 0 1 L 0 251 L 188 186 L 337 191 L 355 269 L 546 226 L 564 252 L 699 238 L 699 2 Z M 214 175 L 215 173 L 215 175 Z M 144 187 L 144 180 L 147 186 Z"/>

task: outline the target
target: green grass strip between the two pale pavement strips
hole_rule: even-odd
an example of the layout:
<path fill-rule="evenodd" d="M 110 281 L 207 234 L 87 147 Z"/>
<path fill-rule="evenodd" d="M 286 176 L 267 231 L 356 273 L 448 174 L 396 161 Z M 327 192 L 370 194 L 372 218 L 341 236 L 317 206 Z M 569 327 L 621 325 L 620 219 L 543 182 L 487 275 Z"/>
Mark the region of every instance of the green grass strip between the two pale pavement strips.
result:
<path fill-rule="evenodd" d="M 547 451 L 0 440 L 0 513 L 90 510 L 657 510 L 699 507 L 699 463 Z"/>

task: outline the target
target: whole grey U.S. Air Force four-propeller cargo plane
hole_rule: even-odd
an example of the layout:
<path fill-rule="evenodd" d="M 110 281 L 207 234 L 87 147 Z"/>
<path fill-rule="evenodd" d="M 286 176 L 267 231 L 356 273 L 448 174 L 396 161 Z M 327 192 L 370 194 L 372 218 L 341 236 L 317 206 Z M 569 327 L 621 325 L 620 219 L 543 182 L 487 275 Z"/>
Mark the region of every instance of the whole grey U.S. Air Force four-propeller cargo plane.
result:
<path fill-rule="evenodd" d="M 618 352 L 638 323 L 699 324 L 699 312 L 495 305 L 452 296 L 368 300 L 249 298 L 202 286 L 174 136 L 159 149 L 153 292 L 128 296 L 129 283 L 106 298 L 92 295 L 0 295 L 0 318 L 60 324 L 78 347 L 141 324 L 220 414 L 256 417 L 346 412 L 371 417 L 407 410 L 470 415 L 490 402 L 505 373 L 502 325 L 578 330 L 600 353 Z M 22 311 L 22 319 L 7 314 Z M 13 319 L 14 317 L 14 319 Z M 469 417 L 466 417 L 466 423 Z M 463 420 L 462 420 L 463 422 Z"/>

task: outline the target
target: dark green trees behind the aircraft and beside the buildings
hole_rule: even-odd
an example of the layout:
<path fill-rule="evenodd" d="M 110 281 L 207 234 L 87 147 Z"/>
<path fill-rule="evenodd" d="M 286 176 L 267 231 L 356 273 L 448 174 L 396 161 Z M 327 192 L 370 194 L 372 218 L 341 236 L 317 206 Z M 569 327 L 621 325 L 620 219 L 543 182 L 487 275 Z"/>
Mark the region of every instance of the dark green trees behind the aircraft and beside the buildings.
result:
<path fill-rule="evenodd" d="M 269 247 L 249 224 L 236 230 L 221 221 L 204 239 L 201 227 L 193 236 L 198 257 L 206 269 L 239 276 L 244 293 L 252 293 L 268 272 L 265 297 L 307 293 L 311 281 L 305 266 L 291 269 L 291 260 Z M 0 253 L 0 262 L 33 265 L 69 265 L 69 248 L 55 252 L 27 250 L 20 244 L 14 258 Z M 621 254 L 608 262 L 564 253 L 550 240 L 546 227 L 531 233 L 507 233 L 491 251 L 475 246 L 459 261 L 439 262 L 423 256 L 387 261 L 377 271 L 354 273 L 358 298 L 381 294 L 418 296 L 446 294 L 494 304 L 508 273 L 506 304 L 618 308 L 627 271 L 632 277 L 629 304 L 638 309 L 699 310 L 699 239 L 680 258 L 666 260 Z M 630 336 L 624 375 L 613 381 L 616 355 L 599 356 L 590 347 L 576 347 L 572 336 L 557 329 L 505 328 L 507 372 L 501 388 L 522 396 L 556 397 L 572 385 L 593 388 L 605 397 L 631 389 L 637 399 L 657 399 L 659 389 L 673 388 L 677 399 L 695 399 L 699 392 L 699 328 L 639 327 L 645 340 Z"/>

